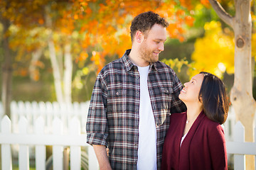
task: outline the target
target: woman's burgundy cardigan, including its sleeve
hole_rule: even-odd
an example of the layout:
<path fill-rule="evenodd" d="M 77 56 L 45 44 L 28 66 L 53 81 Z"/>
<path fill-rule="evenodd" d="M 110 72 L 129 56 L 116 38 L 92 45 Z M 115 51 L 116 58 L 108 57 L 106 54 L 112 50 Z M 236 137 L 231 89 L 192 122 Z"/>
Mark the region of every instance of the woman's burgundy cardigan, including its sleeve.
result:
<path fill-rule="evenodd" d="M 161 169 L 228 169 L 225 136 L 221 125 L 208 119 L 202 111 L 181 144 L 185 124 L 186 112 L 171 114 Z"/>

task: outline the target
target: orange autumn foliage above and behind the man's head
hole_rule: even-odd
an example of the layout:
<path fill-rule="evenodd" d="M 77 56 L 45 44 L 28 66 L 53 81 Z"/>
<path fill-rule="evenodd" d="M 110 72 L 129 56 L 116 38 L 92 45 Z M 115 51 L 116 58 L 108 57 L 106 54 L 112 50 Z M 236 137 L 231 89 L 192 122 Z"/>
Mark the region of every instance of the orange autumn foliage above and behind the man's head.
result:
<path fill-rule="evenodd" d="M 42 27 L 58 35 L 54 41 L 56 50 L 60 50 L 59 48 L 65 44 L 65 41 L 70 40 L 70 36 L 78 33 L 75 43 L 79 45 L 74 46 L 78 49 L 73 50 L 73 59 L 75 62 L 84 62 L 90 58 L 97 70 L 100 70 L 105 65 L 107 55 L 122 57 L 124 51 L 132 47 L 129 26 L 134 16 L 145 11 L 159 13 L 170 23 L 167 28 L 169 37 L 183 41 L 186 26 L 193 26 L 194 19 L 190 10 L 193 9 L 194 4 L 199 2 L 197 0 L 41 0 L 26 2 L 12 0 L 11 4 L 8 4 L 9 8 L 5 10 L 4 8 L 8 6 L 6 3 L 6 1 L 0 1 L 0 9 L 4 11 L 2 16 L 9 18 L 15 26 L 23 29 Z M 208 1 L 201 0 L 201 3 L 208 4 Z M 46 22 L 46 7 L 50 8 L 50 13 L 48 13 L 52 19 L 50 26 Z M 10 46 L 16 49 L 24 44 L 25 39 L 18 38 L 11 42 Z M 26 49 L 26 52 L 33 52 L 38 47 L 44 47 L 44 43 L 43 40 L 33 42 L 22 48 Z M 91 55 L 92 51 L 96 52 L 96 55 Z"/>

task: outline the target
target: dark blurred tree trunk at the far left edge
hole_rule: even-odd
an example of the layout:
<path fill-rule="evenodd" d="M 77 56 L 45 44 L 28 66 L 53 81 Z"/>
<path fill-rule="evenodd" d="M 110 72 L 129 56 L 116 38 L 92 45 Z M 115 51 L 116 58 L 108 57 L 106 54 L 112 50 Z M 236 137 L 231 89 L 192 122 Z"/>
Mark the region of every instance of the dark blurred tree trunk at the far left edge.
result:
<path fill-rule="evenodd" d="M 3 46 L 4 46 L 4 65 L 2 66 L 2 95 L 1 101 L 4 107 L 4 114 L 11 118 L 11 78 L 12 78 L 12 59 L 11 50 L 9 49 L 9 39 L 5 36 L 5 33 L 9 30 L 11 25 L 10 21 L 1 18 L 1 23 L 3 23 Z"/>

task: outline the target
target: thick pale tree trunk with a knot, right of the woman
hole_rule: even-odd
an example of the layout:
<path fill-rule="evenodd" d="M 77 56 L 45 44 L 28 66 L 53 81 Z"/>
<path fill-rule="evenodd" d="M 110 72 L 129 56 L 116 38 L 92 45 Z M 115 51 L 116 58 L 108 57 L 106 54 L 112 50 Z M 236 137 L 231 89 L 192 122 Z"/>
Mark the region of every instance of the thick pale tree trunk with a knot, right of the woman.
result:
<path fill-rule="evenodd" d="M 245 126 L 245 141 L 254 140 L 255 99 L 252 96 L 252 18 L 250 0 L 235 0 L 235 17 L 231 17 L 215 0 L 209 0 L 218 16 L 235 33 L 235 80 L 230 100 L 236 120 Z M 254 156 L 246 156 L 246 169 L 255 169 Z"/>

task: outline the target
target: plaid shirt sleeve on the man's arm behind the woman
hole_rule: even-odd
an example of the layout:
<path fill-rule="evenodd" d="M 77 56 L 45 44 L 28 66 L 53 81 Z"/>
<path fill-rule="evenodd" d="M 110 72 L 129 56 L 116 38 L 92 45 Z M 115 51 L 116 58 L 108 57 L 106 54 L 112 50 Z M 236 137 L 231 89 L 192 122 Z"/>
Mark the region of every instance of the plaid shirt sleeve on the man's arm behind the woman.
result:
<path fill-rule="evenodd" d="M 183 89 L 183 85 L 181 81 L 178 79 L 176 74 L 174 73 L 173 86 L 172 86 L 172 94 L 171 94 L 171 113 L 182 113 L 186 111 L 186 105 L 178 98 L 181 90 Z"/>

